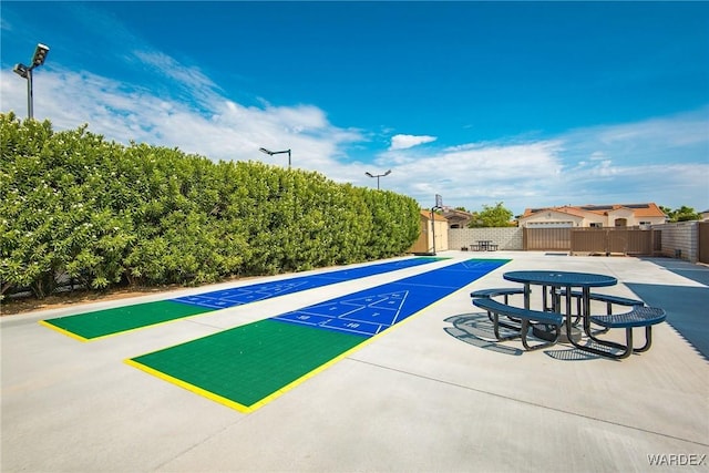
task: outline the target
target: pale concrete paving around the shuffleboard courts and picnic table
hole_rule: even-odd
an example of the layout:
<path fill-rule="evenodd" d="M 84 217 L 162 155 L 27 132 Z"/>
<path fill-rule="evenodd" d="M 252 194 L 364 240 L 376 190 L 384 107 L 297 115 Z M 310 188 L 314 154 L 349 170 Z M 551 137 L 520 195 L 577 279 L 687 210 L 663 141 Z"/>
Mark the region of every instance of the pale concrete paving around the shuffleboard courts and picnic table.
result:
<path fill-rule="evenodd" d="M 1 471 L 709 472 L 709 268 L 439 256 L 452 259 L 85 343 L 38 321 L 238 284 L 2 317 Z M 512 261 L 249 414 L 123 362 L 473 257 Z M 517 269 L 615 276 L 620 284 L 604 291 L 664 307 L 667 322 L 649 352 L 623 361 L 566 345 L 525 352 L 517 341 L 485 341 L 491 325 L 469 294 L 512 286 L 502 275 Z"/>

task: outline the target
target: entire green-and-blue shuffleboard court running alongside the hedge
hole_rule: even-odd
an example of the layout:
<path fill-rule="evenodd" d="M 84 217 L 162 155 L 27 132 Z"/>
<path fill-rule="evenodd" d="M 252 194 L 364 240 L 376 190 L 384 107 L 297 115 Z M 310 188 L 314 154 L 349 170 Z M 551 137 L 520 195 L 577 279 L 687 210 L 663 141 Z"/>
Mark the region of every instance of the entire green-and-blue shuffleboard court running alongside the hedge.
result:
<path fill-rule="evenodd" d="M 189 316 L 210 312 L 213 310 L 242 306 L 306 289 L 425 265 L 442 259 L 445 258 L 409 258 L 387 261 L 357 268 L 339 269 L 325 274 L 299 276 L 276 282 L 255 284 L 163 301 L 136 304 L 59 317 L 42 320 L 40 323 L 78 340 L 90 341 Z"/>

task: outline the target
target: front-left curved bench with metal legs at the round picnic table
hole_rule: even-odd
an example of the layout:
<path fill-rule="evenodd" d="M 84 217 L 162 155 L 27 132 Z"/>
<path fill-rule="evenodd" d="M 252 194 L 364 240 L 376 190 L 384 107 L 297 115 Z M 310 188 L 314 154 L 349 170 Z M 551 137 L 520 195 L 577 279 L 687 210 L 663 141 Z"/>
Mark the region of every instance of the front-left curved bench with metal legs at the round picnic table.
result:
<path fill-rule="evenodd" d="M 473 305 L 487 311 L 487 317 L 490 317 L 493 321 L 495 338 L 497 338 L 499 341 L 521 338 L 522 345 L 526 350 L 538 350 L 540 348 L 549 347 L 556 343 L 561 336 L 562 323 L 564 322 L 564 317 L 561 313 L 512 307 L 485 297 L 473 299 Z M 512 335 L 501 336 L 500 326 L 502 323 L 500 323 L 500 316 L 518 319 L 521 321 L 520 329 Z M 544 323 L 546 326 L 553 326 L 554 338 L 545 343 L 540 343 L 531 347 L 527 342 L 527 332 L 530 331 L 530 325 L 533 323 Z M 510 328 L 505 325 L 502 326 Z"/>

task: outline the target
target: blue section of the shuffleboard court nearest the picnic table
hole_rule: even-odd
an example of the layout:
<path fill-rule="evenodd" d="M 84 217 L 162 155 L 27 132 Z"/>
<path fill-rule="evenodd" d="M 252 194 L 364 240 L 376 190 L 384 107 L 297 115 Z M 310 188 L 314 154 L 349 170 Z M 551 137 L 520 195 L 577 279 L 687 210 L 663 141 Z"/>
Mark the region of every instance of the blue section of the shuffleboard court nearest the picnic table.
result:
<path fill-rule="evenodd" d="M 507 261 L 510 260 L 470 259 L 286 312 L 274 319 L 372 337 Z"/>

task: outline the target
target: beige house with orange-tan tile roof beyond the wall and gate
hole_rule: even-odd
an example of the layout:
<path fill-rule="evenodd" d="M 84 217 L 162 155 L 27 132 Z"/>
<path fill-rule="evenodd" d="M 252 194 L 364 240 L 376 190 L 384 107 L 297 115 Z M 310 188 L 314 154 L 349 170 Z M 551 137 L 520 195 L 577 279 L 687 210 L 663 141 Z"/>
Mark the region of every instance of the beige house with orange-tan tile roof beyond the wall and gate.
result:
<path fill-rule="evenodd" d="M 655 204 L 565 205 L 526 208 L 518 218 L 521 227 L 636 227 L 660 225 L 667 215 Z"/>

